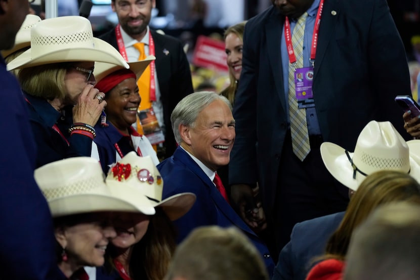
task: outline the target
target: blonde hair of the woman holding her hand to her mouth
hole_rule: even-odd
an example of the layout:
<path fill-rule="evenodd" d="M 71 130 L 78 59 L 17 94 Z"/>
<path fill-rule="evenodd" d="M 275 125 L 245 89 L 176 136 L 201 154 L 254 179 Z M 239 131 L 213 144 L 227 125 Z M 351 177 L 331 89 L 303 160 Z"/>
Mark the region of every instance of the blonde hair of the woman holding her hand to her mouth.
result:
<path fill-rule="evenodd" d="M 22 90 L 47 100 L 63 99 L 67 94 L 64 77 L 71 64 L 63 62 L 21 69 L 18 79 Z"/>

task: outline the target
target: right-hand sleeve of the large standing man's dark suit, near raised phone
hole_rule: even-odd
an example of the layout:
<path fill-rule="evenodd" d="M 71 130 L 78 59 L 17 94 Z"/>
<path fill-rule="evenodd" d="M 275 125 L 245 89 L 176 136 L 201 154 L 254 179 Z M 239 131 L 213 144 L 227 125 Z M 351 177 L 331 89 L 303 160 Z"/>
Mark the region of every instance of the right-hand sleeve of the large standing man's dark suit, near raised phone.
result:
<path fill-rule="evenodd" d="M 403 129 L 402 110 L 397 106 L 396 95 L 411 95 L 410 75 L 404 46 L 389 12 L 386 0 L 374 0 L 368 37 L 368 67 L 375 99 L 380 103 L 380 119 L 390 121 L 408 140 Z M 361 100 L 360 102 L 363 102 Z"/>

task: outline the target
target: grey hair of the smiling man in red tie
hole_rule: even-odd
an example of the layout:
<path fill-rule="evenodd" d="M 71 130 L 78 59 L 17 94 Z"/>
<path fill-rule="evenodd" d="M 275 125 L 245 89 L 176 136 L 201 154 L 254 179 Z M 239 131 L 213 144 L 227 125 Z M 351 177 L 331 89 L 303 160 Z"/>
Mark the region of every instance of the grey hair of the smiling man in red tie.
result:
<path fill-rule="evenodd" d="M 210 105 L 215 100 L 222 100 L 229 106 L 232 111 L 232 104 L 229 100 L 215 92 L 195 92 L 184 97 L 175 107 L 171 114 L 172 130 L 174 131 L 175 140 L 178 144 L 182 142 L 179 126 L 185 125 L 193 128 L 198 114 L 204 110 L 205 107 Z"/>

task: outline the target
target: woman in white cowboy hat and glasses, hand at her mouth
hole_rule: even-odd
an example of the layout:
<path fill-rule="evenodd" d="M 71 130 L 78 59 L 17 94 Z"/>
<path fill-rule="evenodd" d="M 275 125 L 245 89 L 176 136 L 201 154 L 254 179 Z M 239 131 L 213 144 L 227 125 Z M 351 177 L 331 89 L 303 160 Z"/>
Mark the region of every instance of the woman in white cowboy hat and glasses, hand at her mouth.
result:
<path fill-rule="evenodd" d="M 40 21 L 31 48 L 8 64 L 27 101 L 37 146 L 36 166 L 71 156 L 90 156 L 93 128 L 106 106 L 94 89 L 95 61 L 128 68 L 108 43 L 94 38 L 89 20 L 78 16 Z"/>

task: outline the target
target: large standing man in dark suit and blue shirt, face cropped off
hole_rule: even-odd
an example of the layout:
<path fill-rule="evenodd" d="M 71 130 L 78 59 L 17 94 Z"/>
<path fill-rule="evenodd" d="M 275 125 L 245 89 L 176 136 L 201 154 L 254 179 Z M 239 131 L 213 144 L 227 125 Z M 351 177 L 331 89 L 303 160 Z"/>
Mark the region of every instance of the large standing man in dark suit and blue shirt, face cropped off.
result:
<path fill-rule="evenodd" d="M 237 136 L 229 164 L 232 203 L 252 208 L 250 186 L 258 181 L 277 250 L 287 243 L 296 222 L 346 208 L 346 188 L 321 162 L 323 141 L 350 149 L 373 119 L 391 121 L 407 135 L 394 97 L 410 95 L 410 77 L 386 0 L 324 0 L 314 38 L 321 1 L 272 0 L 273 7 L 248 21 L 243 37 L 242 74 L 233 112 Z M 308 76 L 313 79 L 314 103 L 300 109 L 306 111 L 302 119 L 310 143 L 302 161 L 292 151 L 288 74 L 293 64 L 284 22 L 287 16 L 293 37 L 297 19 L 305 12 L 309 15 L 300 50 L 303 67 L 312 66 L 311 46 L 314 42 L 317 46 L 313 75 Z"/>

